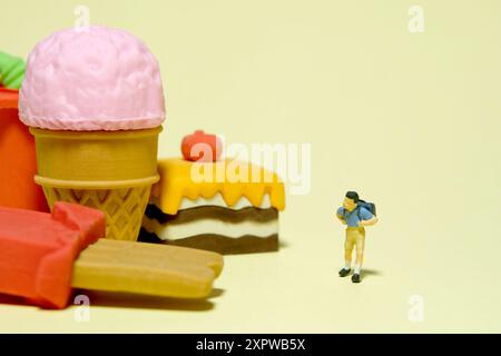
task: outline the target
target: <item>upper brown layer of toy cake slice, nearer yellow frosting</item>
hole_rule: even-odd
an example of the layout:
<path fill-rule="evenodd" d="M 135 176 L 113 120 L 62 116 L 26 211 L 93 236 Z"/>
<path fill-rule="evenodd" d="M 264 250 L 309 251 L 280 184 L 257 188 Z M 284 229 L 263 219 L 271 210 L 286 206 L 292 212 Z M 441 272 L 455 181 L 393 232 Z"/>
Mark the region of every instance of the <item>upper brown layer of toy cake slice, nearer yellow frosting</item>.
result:
<path fill-rule="evenodd" d="M 275 208 L 259 209 L 247 207 L 233 210 L 217 206 L 200 206 L 179 210 L 176 215 L 168 215 L 151 204 L 146 208 L 145 215 L 163 225 L 186 224 L 200 219 L 217 219 L 232 224 L 242 221 L 268 222 L 278 218 L 278 211 Z"/>

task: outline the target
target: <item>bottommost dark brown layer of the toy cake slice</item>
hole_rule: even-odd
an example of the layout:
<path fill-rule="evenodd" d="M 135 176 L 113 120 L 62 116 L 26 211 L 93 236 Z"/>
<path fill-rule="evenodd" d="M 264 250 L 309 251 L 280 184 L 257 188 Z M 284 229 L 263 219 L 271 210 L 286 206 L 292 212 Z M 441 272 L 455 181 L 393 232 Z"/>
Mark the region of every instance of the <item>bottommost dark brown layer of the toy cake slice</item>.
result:
<path fill-rule="evenodd" d="M 202 234 L 176 240 L 161 240 L 155 234 L 141 228 L 139 240 L 144 243 L 160 243 L 166 245 L 199 248 L 223 255 L 268 253 L 278 250 L 278 235 L 256 237 L 243 235 L 242 237 L 226 237 L 216 234 Z"/>

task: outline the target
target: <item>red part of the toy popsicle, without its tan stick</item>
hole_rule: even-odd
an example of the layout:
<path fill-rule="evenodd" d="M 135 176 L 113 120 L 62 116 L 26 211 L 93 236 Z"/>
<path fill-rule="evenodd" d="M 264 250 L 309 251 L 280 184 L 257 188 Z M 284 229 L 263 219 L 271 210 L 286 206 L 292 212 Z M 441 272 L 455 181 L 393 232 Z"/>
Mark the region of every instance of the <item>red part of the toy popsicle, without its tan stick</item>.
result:
<path fill-rule="evenodd" d="M 0 293 L 66 307 L 75 259 L 105 234 L 105 215 L 76 204 L 52 214 L 0 207 Z"/>

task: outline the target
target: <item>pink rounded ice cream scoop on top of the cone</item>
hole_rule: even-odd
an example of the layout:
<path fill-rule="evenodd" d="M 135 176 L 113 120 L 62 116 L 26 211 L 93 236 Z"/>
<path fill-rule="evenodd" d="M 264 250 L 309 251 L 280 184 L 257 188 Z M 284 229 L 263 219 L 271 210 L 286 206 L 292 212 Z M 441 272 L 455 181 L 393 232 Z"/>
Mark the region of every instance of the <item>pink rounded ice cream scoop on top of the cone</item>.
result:
<path fill-rule="evenodd" d="M 51 34 L 28 58 L 21 121 L 50 130 L 136 130 L 165 118 L 156 58 L 117 29 L 91 26 Z"/>

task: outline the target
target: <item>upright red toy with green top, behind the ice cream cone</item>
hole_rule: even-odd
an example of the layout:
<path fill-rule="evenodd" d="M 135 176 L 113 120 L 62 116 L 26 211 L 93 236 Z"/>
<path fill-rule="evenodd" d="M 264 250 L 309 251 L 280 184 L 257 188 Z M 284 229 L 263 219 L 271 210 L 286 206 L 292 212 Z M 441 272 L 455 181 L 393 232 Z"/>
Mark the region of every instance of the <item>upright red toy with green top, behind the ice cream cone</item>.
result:
<path fill-rule="evenodd" d="M 18 91 L 0 88 L 0 206 L 49 211 L 35 184 L 35 140 L 19 121 Z"/>

